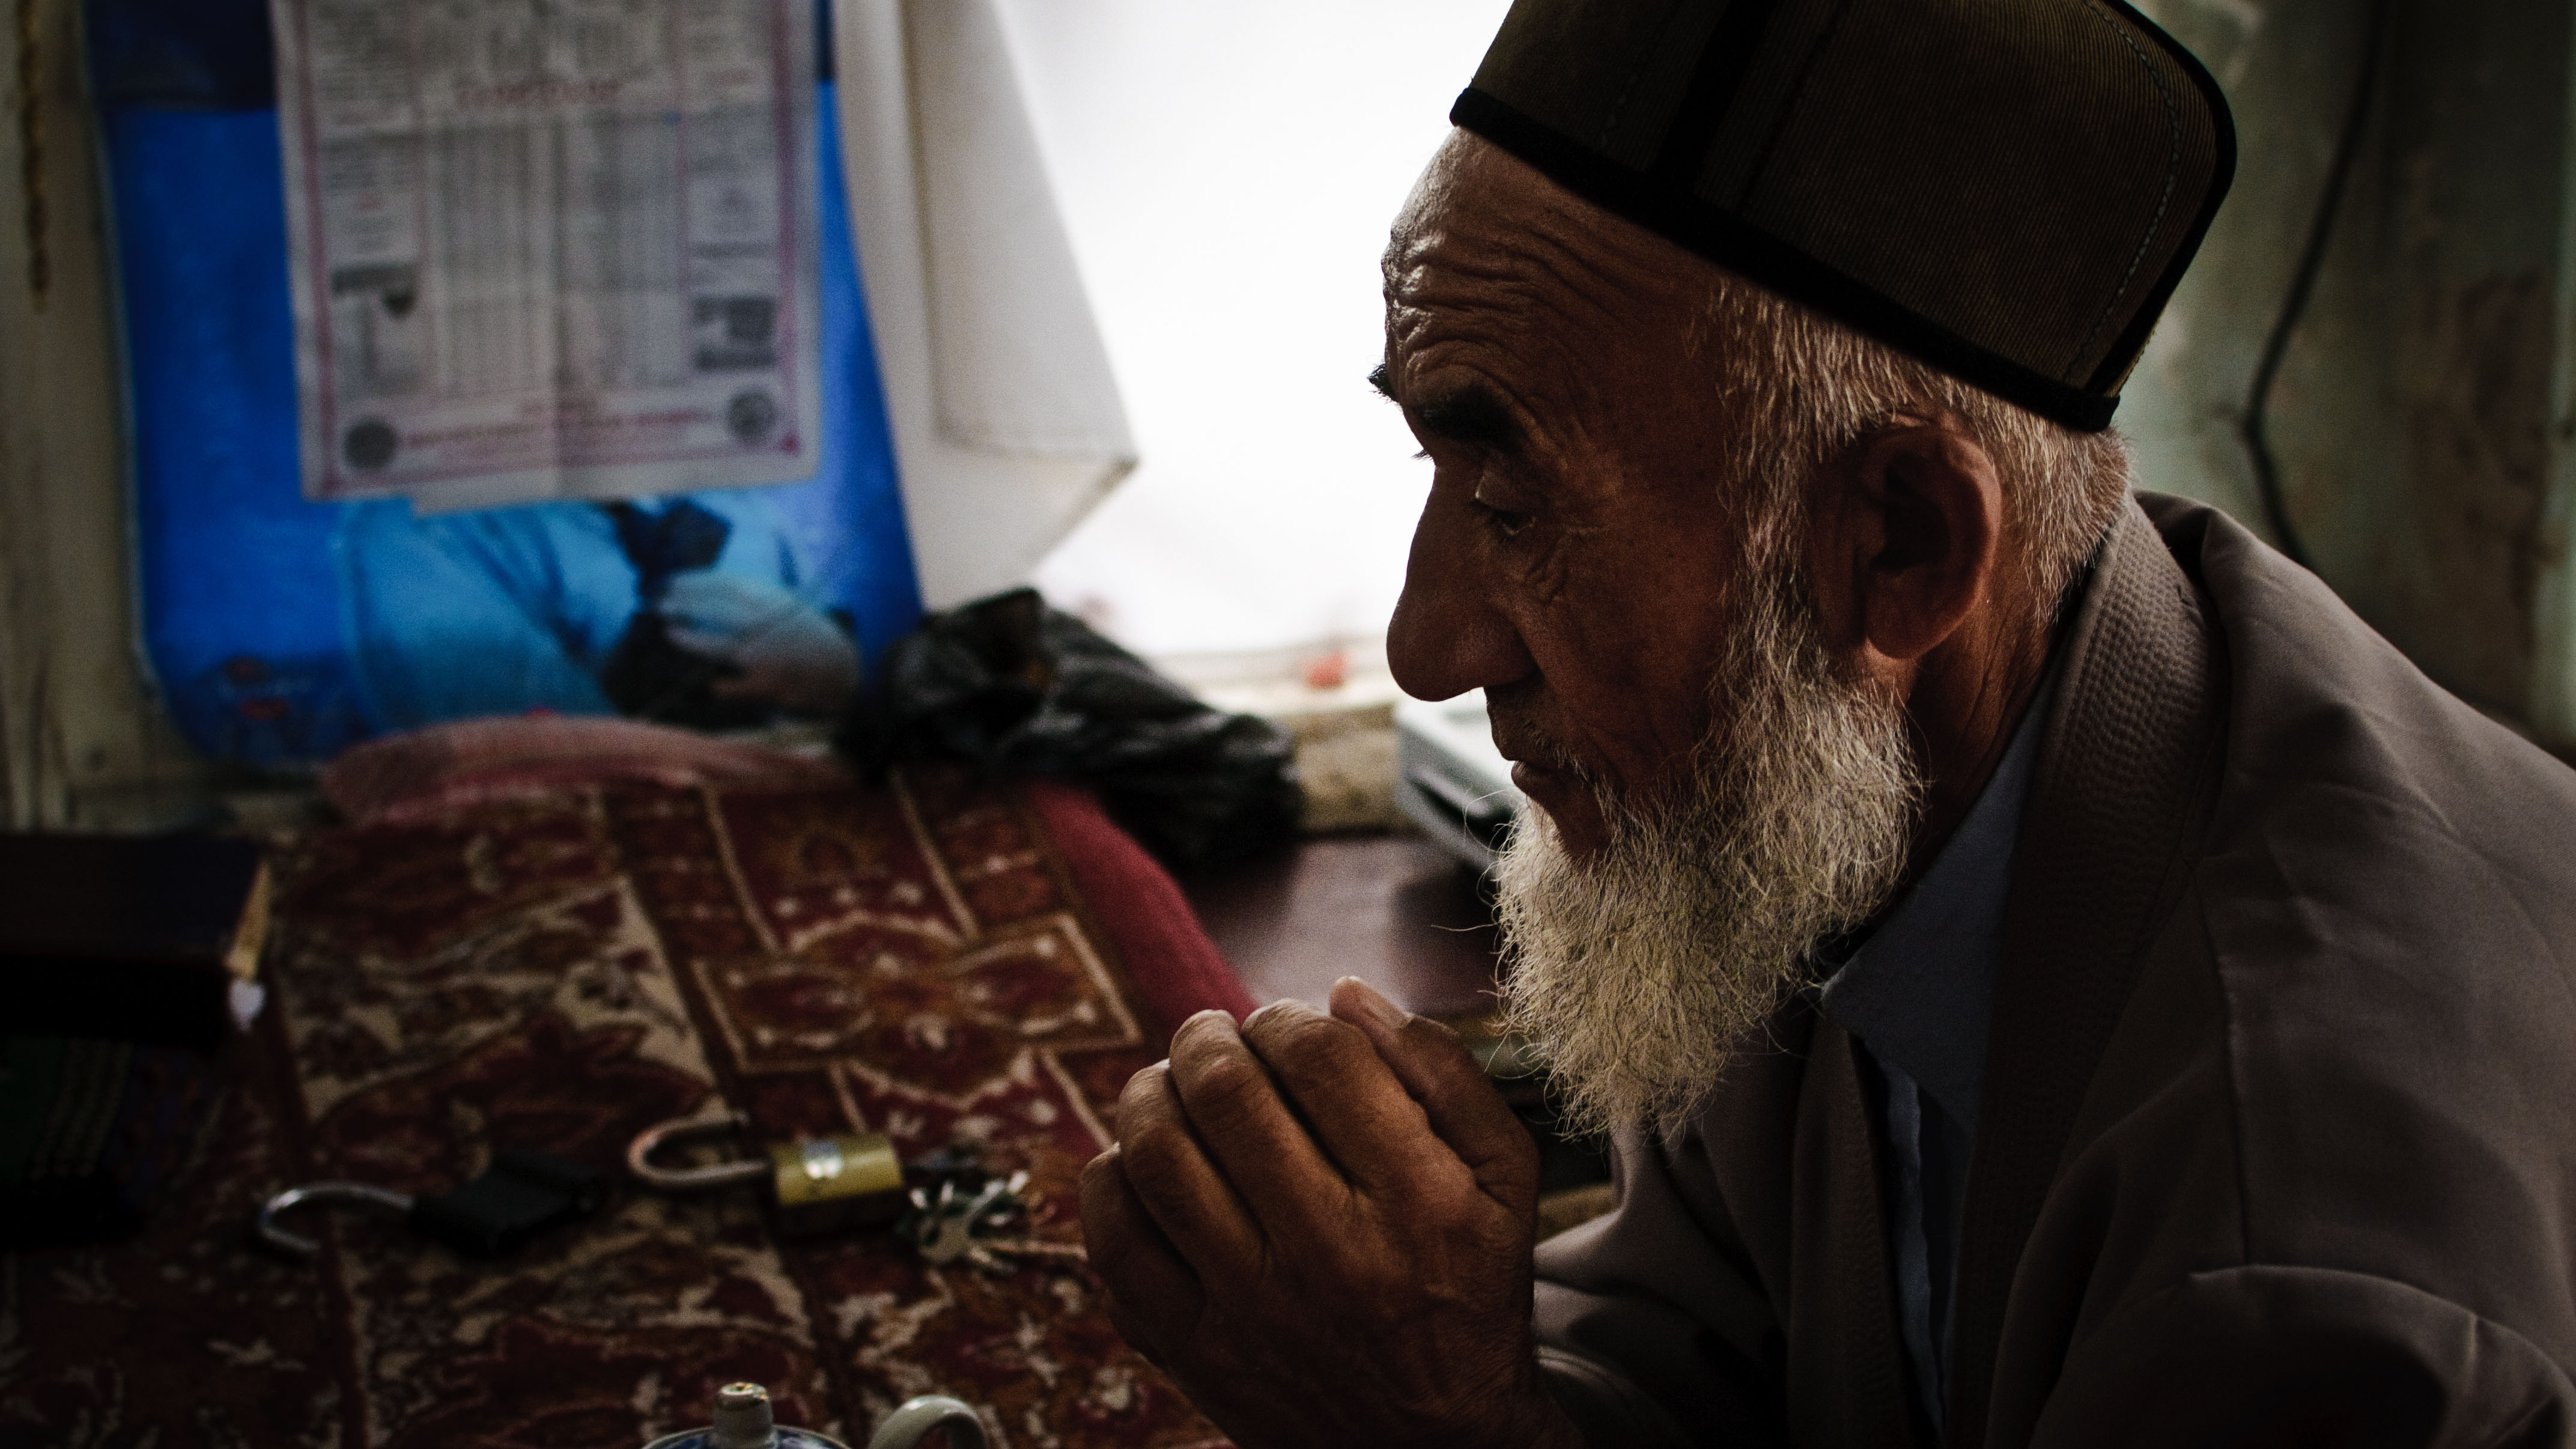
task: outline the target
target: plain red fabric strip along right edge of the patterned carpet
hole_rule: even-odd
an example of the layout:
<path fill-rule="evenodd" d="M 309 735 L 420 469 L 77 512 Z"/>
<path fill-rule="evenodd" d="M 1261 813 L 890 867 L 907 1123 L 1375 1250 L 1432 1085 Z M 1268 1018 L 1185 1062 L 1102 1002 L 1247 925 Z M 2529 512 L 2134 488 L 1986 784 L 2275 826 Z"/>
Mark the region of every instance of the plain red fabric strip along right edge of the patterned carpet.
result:
<path fill-rule="evenodd" d="M 1229 1011 L 1236 1021 L 1252 1013 L 1252 993 L 1216 954 L 1216 941 L 1208 941 L 1180 887 L 1144 846 L 1110 822 L 1090 792 L 1036 781 L 1028 799 L 1064 851 L 1074 890 L 1126 957 L 1136 995 L 1162 1018 L 1162 1036 L 1208 1008 Z"/>

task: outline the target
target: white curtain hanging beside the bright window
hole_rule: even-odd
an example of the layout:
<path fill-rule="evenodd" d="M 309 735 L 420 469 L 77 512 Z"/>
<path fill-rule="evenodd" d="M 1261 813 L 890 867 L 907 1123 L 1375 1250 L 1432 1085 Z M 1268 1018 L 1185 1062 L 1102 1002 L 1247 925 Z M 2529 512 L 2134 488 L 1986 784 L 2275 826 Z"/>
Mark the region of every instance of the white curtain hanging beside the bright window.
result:
<path fill-rule="evenodd" d="M 992 0 L 832 10 L 912 554 L 945 608 L 1025 583 L 1136 443 Z"/>

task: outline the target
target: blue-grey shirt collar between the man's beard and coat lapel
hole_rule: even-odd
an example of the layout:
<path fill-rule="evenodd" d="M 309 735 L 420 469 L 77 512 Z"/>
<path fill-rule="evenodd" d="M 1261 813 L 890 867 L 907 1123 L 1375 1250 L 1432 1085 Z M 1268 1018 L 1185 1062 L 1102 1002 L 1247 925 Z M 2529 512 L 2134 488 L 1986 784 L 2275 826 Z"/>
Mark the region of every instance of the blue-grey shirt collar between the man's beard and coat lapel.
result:
<path fill-rule="evenodd" d="M 2058 673 L 2058 660 L 2050 660 L 1965 820 L 1819 995 L 1834 1024 L 1914 1078 L 1971 1137 L 1986 1085 L 1986 1026 L 2004 949 L 2012 848 L 2022 835 Z"/>

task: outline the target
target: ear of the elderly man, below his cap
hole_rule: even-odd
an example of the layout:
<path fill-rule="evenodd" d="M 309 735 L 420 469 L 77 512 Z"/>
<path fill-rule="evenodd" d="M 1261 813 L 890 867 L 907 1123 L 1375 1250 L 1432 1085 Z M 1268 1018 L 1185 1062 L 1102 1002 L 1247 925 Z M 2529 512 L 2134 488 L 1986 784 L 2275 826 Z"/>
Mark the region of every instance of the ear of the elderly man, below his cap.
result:
<path fill-rule="evenodd" d="M 1929 655 L 1996 588 L 2004 482 L 1976 438 L 1904 420 L 1819 472 L 1816 621 L 1862 668 Z"/>

